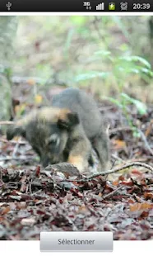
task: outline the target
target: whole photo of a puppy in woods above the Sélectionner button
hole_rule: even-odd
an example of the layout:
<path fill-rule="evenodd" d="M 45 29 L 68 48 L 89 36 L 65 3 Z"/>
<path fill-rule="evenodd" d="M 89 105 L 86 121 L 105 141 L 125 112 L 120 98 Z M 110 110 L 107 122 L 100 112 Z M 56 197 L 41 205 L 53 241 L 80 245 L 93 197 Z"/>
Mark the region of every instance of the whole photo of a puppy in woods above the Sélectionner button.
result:
<path fill-rule="evenodd" d="M 0 16 L 0 239 L 153 239 L 153 17 Z"/>

